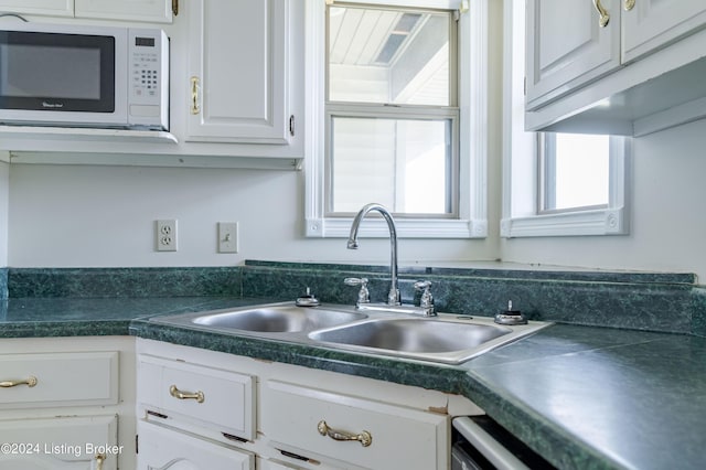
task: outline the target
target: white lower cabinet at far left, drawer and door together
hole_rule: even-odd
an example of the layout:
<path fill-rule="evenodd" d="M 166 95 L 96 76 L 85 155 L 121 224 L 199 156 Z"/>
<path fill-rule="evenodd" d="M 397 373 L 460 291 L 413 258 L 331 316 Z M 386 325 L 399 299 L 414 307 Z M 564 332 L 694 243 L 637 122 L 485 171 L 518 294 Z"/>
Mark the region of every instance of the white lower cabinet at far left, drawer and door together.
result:
<path fill-rule="evenodd" d="M 0 469 L 135 467 L 135 340 L 0 340 Z"/>

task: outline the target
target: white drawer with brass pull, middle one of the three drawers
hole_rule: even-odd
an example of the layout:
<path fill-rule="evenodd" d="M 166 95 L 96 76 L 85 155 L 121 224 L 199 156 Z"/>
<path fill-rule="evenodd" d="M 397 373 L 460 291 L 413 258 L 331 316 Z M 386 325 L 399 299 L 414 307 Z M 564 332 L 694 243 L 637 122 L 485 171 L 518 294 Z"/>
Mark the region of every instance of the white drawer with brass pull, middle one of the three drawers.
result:
<path fill-rule="evenodd" d="M 255 439 L 255 381 L 249 375 L 152 356 L 138 361 L 138 400 L 170 418 Z"/>

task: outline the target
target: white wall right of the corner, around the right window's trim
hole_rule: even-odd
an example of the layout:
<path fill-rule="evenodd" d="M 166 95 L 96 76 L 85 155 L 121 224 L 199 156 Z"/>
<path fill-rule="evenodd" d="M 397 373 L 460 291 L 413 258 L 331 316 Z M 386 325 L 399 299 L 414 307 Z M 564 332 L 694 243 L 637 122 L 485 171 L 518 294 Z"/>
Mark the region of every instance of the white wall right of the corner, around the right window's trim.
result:
<path fill-rule="evenodd" d="M 634 139 L 633 148 L 630 235 L 509 239 L 503 259 L 706 278 L 706 120 Z"/>

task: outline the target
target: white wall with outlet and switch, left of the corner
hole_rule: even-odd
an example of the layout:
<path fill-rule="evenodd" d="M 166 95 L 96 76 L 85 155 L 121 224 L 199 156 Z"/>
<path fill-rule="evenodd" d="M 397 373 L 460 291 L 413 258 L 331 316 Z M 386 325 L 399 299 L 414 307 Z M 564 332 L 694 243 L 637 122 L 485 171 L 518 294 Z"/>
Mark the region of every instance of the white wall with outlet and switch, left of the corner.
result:
<path fill-rule="evenodd" d="M 361 239 L 355 252 L 342 238 L 303 237 L 302 172 L 12 164 L 9 173 L 11 267 L 389 260 L 386 239 Z M 178 220 L 176 253 L 154 250 L 157 218 Z M 218 221 L 239 222 L 237 255 L 216 253 Z M 400 265 L 492 259 L 495 247 L 403 239 Z"/>

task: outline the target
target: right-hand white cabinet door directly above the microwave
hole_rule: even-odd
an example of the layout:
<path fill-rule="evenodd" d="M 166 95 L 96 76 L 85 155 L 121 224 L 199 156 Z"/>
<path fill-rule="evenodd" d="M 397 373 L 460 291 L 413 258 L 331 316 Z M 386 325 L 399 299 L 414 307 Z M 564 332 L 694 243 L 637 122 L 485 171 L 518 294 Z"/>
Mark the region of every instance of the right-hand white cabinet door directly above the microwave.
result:
<path fill-rule="evenodd" d="M 76 18 L 172 22 L 171 0 L 75 0 Z"/>

